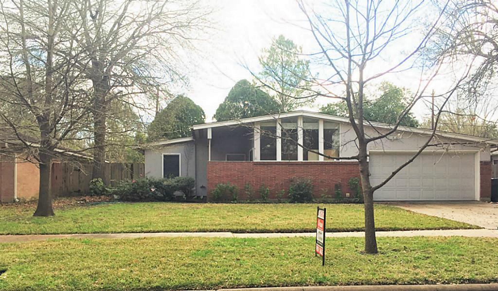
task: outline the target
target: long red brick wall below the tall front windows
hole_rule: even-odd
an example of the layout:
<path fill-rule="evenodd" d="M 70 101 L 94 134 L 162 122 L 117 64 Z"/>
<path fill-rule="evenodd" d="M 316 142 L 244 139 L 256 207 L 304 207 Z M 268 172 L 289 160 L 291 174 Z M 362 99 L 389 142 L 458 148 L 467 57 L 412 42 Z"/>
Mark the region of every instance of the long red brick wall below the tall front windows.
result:
<path fill-rule="evenodd" d="M 343 195 L 354 194 L 348 187 L 349 179 L 360 177 L 357 162 L 208 162 L 208 199 L 211 190 L 219 183 L 231 183 L 239 188 L 239 199 L 246 199 L 244 186 L 249 183 L 254 198 L 260 198 L 257 190 L 264 184 L 270 189 L 269 199 L 277 198 L 280 190 L 289 189 L 294 177 L 311 178 L 314 196 L 335 196 L 335 185 L 340 183 Z"/>

